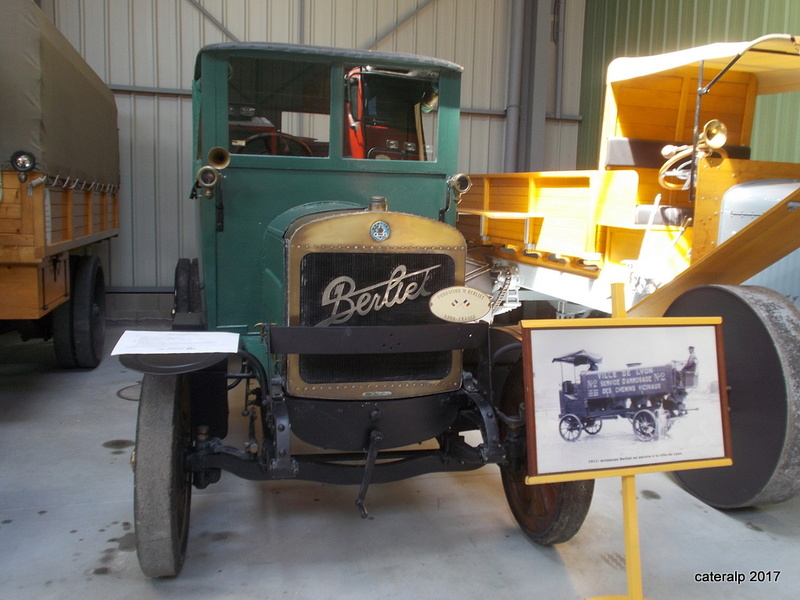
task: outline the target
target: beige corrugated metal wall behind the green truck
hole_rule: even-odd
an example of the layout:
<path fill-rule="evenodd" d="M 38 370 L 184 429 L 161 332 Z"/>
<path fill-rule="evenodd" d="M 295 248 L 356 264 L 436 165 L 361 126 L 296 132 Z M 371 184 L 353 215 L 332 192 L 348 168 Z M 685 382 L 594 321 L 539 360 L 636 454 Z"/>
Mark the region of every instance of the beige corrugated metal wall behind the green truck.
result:
<path fill-rule="evenodd" d="M 3 0 L 8 1 L 8 0 Z M 436 56 L 465 67 L 461 169 L 502 170 L 511 0 L 42 0 L 115 91 L 121 233 L 103 256 L 112 288 L 172 288 L 197 255 L 190 82 L 200 47 L 277 41 Z"/>

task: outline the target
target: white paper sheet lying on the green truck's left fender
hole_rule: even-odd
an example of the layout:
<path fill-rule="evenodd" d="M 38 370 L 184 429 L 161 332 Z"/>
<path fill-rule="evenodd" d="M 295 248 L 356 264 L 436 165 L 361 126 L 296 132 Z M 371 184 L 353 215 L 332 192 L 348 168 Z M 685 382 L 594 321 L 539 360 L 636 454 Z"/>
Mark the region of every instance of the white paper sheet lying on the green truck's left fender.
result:
<path fill-rule="evenodd" d="M 239 334 L 224 331 L 131 331 L 111 351 L 119 354 L 206 354 L 235 353 Z"/>

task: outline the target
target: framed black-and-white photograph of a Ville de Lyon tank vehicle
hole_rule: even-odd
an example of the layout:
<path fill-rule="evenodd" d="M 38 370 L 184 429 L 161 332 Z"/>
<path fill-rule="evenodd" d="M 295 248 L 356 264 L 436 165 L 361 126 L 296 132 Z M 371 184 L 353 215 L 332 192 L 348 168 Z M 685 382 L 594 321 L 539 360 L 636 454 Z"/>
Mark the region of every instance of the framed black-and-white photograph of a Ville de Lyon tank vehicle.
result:
<path fill-rule="evenodd" d="M 529 475 L 730 458 L 720 319 L 522 326 Z"/>

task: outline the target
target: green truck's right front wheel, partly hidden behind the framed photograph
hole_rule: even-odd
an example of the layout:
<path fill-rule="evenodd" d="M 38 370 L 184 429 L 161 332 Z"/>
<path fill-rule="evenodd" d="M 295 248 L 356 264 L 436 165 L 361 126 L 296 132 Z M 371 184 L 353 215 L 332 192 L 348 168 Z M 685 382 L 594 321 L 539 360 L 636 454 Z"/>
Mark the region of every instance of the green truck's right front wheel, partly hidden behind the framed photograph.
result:
<path fill-rule="evenodd" d="M 517 416 L 523 398 L 522 363 L 518 362 L 509 373 L 500 409 L 506 415 Z M 504 439 L 509 433 L 508 426 L 501 426 Z M 527 485 L 524 436 L 519 450 L 519 461 L 500 467 L 514 519 L 528 539 L 537 544 L 549 546 L 572 539 L 589 512 L 594 480 Z"/>

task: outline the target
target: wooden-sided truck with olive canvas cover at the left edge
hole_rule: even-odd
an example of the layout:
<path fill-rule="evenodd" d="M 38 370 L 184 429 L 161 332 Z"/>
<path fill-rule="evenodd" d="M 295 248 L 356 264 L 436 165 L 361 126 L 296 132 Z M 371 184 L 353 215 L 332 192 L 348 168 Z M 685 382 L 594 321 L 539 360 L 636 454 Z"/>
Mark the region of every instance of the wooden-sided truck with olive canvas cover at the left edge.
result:
<path fill-rule="evenodd" d="M 0 332 L 95 367 L 105 283 L 88 249 L 119 230 L 114 96 L 33 2 L 0 10 L 0 51 Z"/>

